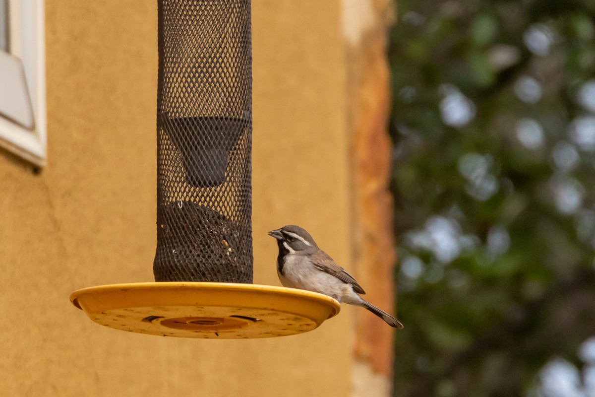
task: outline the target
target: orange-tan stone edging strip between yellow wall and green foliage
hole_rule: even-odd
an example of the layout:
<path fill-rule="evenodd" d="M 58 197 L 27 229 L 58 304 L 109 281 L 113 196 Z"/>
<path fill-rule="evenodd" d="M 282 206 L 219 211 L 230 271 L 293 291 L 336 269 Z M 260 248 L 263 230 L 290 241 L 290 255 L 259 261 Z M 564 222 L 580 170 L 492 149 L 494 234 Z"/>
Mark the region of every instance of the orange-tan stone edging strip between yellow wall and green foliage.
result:
<path fill-rule="evenodd" d="M 353 261 L 368 301 L 394 306 L 392 142 L 387 131 L 390 70 L 386 47 L 392 0 L 343 0 L 349 129 L 352 133 Z M 356 313 L 354 396 L 389 396 L 393 329 L 367 311 Z"/>

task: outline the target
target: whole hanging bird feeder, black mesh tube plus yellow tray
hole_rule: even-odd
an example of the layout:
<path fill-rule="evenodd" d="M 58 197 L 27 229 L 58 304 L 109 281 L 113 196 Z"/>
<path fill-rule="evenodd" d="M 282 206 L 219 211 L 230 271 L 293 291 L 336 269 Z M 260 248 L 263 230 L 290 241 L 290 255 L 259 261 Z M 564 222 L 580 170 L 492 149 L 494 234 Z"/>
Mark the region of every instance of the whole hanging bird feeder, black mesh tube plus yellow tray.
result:
<path fill-rule="evenodd" d="M 250 0 L 158 0 L 155 283 L 89 287 L 71 302 L 129 332 L 293 335 L 339 303 L 253 285 Z"/>

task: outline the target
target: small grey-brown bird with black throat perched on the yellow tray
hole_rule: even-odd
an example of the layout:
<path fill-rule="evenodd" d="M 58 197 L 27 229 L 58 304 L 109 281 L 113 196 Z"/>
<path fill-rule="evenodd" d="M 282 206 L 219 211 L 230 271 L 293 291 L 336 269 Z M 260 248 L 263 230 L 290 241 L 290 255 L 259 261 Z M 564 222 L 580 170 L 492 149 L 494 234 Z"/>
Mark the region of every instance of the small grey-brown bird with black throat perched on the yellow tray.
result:
<path fill-rule="evenodd" d="M 319 292 L 349 305 L 364 307 L 382 318 L 389 326 L 402 329 L 392 315 L 366 301 L 364 289 L 326 252 L 318 248 L 310 233 L 295 225 L 271 230 L 277 239 L 277 275 L 285 287 Z"/>

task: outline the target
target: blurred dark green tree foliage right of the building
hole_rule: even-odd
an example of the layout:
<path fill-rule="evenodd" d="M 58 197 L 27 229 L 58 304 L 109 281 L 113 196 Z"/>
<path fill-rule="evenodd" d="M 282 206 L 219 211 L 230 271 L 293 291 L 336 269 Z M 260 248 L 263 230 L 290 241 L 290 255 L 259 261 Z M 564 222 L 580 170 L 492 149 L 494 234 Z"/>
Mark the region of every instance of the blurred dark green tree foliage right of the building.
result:
<path fill-rule="evenodd" d="M 595 2 L 397 8 L 394 393 L 524 395 L 595 335 Z"/>

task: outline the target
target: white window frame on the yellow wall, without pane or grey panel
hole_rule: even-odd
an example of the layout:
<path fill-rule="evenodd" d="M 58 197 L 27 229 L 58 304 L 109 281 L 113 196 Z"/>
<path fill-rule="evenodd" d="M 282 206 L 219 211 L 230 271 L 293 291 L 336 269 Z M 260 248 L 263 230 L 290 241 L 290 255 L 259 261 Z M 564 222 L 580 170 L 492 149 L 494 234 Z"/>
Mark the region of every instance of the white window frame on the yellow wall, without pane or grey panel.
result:
<path fill-rule="evenodd" d="M 43 1 L 8 0 L 9 51 L 22 62 L 33 111 L 33 128 L 23 127 L 0 114 L 0 146 L 39 167 L 46 164 L 47 152 Z M 0 70 L 0 73 L 6 76 L 7 71 Z"/>

